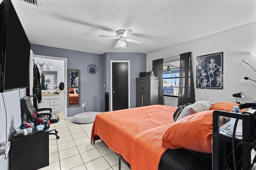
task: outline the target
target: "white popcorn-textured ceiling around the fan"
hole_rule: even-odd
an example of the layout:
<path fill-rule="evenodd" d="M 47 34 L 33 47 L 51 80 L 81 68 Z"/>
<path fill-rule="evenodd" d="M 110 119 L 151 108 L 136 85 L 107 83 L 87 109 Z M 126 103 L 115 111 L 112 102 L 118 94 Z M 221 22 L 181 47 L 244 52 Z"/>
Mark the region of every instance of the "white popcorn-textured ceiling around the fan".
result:
<path fill-rule="evenodd" d="M 32 44 L 103 54 L 150 53 L 256 21 L 255 0 L 12 0 Z M 126 49 L 119 29 L 131 29 Z"/>

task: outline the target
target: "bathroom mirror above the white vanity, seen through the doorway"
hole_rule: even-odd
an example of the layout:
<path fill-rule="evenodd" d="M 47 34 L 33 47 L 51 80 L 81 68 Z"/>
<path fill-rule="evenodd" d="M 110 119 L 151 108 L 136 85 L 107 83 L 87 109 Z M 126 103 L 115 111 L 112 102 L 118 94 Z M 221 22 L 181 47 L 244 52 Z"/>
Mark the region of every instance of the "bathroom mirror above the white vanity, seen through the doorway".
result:
<path fill-rule="evenodd" d="M 57 71 L 42 71 L 41 73 L 42 90 L 54 90 L 58 88 L 58 72 Z"/>

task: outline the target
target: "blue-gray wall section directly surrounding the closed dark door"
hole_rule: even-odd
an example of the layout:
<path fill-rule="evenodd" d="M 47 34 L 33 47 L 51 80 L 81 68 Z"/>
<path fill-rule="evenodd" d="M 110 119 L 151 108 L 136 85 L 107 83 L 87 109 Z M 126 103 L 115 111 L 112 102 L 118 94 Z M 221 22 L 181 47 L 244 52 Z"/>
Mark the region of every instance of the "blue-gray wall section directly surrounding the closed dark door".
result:
<path fill-rule="evenodd" d="M 111 95 L 110 61 L 130 61 L 130 107 L 131 108 L 136 107 L 136 78 L 140 76 L 140 72 L 146 71 L 146 54 L 143 54 L 143 53 L 105 53 L 105 54 L 106 54 L 106 92 L 108 92 L 109 95 Z M 110 106 L 109 106 L 109 109 L 111 109 Z"/>

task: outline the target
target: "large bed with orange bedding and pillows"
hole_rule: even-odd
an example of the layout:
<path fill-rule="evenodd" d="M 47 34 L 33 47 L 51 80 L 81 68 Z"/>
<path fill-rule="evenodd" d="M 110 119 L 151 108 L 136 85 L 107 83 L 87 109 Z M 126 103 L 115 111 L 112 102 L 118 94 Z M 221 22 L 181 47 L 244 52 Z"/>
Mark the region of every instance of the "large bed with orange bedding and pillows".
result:
<path fill-rule="evenodd" d="M 217 108 L 210 107 L 189 115 L 182 115 L 182 107 L 164 105 L 99 113 L 91 143 L 101 139 L 132 170 L 196 170 L 198 165 L 210 170 L 212 113 Z M 177 113 L 184 117 L 174 122 Z M 202 130 L 194 133 L 194 128 Z"/>

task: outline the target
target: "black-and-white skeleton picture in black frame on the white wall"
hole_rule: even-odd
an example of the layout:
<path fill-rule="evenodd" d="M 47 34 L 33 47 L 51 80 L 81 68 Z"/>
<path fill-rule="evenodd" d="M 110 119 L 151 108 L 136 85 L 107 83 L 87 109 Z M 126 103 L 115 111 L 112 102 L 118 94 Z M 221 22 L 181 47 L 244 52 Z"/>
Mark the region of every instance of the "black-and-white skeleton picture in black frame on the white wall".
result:
<path fill-rule="evenodd" d="M 223 52 L 196 59 L 196 88 L 223 89 Z"/>

